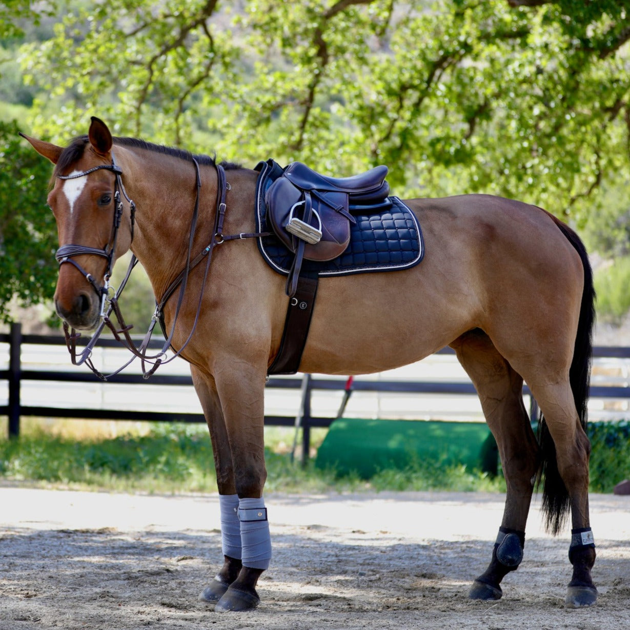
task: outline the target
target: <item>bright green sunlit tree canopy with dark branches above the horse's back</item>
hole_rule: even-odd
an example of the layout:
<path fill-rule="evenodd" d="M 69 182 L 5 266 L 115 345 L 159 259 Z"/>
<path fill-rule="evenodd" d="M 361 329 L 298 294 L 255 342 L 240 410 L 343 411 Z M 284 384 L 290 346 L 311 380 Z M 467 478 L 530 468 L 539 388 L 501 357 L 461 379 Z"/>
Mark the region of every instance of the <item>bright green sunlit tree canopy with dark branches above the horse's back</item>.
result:
<path fill-rule="evenodd" d="M 496 193 L 580 227 L 615 198 L 618 223 L 628 4 L 71 3 L 54 37 L 21 48 L 41 90 L 30 131 L 62 144 L 95 114 L 118 135 L 247 166 L 272 156 L 351 175 L 385 163 L 401 196 Z"/>

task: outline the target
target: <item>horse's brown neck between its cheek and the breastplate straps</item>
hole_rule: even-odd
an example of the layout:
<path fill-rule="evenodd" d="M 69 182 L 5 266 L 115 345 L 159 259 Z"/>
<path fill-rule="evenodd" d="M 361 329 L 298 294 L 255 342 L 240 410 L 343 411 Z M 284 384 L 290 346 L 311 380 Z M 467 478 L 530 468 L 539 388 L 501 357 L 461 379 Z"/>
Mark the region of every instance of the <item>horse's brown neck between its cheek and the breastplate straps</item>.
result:
<path fill-rule="evenodd" d="M 126 147 L 124 153 L 120 159 L 123 181 L 136 206 L 131 249 L 159 298 L 186 265 L 197 172 L 192 162 L 178 157 L 147 150 L 130 151 Z M 209 241 L 215 219 L 216 171 L 212 166 L 200 166 L 200 176 L 202 188 L 192 256 L 207 245 L 204 241 Z"/>

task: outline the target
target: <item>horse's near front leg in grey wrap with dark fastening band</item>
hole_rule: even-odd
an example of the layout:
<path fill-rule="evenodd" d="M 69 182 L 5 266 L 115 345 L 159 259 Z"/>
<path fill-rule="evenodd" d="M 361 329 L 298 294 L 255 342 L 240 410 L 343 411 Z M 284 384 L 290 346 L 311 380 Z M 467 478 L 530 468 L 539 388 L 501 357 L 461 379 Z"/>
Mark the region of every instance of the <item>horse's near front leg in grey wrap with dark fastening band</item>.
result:
<path fill-rule="evenodd" d="M 234 368 L 238 365 L 238 371 Z M 217 372 L 217 394 L 221 401 L 225 437 L 231 452 L 229 488 L 230 514 L 236 513 L 241 542 L 241 568 L 231 580 L 237 563 L 226 557 L 229 587 L 217 602 L 215 610 L 249 610 L 260 603 L 256 583 L 270 563 L 271 537 L 263 498 L 265 467 L 265 375 L 266 363 L 260 368 L 233 358 Z M 223 512 L 222 512 L 223 514 Z M 232 525 L 236 521 L 232 520 Z M 223 526 L 223 524 L 222 524 Z"/>

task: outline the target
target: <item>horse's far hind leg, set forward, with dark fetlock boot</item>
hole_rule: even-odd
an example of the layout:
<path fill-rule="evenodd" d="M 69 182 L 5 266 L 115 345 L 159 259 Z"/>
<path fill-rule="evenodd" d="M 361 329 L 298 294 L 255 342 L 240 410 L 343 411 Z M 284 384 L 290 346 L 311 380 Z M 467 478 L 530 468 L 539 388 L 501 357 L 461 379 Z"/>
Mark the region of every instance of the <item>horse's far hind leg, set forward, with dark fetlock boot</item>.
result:
<path fill-rule="evenodd" d="M 539 466 L 539 449 L 522 398 L 522 377 L 483 331 L 476 329 L 451 344 L 471 377 L 493 433 L 507 484 L 503 520 L 490 565 L 473 583 L 471 599 L 496 600 L 501 580 L 523 558 L 525 525 Z"/>

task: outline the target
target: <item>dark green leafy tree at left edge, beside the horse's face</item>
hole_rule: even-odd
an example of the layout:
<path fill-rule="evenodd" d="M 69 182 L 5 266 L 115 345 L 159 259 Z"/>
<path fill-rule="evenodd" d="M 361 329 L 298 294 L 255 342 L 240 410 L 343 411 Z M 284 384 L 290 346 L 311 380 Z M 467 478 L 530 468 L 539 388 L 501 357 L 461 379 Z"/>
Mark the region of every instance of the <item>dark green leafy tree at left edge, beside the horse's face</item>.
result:
<path fill-rule="evenodd" d="M 23 146 L 15 123 L 0 122 L 0 321 L 9 302 L 50 299 L 57 265 L 55 219 L 45 207 L 50 165 Z"/>

